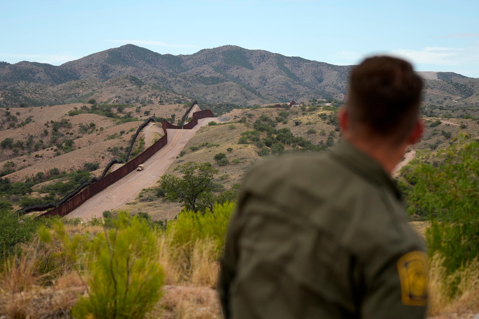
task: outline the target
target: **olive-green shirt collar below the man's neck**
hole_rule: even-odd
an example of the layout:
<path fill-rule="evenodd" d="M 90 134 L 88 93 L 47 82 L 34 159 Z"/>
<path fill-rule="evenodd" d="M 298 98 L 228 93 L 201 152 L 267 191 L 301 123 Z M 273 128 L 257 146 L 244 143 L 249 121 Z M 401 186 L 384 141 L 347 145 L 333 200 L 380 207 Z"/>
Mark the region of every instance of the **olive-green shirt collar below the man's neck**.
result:
<path fill-rule="evenodd" d="M 346 168 L 363 176 L 373 184 L 386 187 L 396 198 L 402 198 L 396 182 L 371 156 L 360 151 L 353 144 L 341 141 L 331 147 L 331 156 Z"/>

